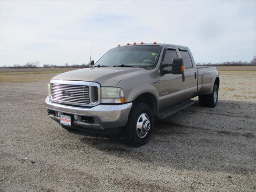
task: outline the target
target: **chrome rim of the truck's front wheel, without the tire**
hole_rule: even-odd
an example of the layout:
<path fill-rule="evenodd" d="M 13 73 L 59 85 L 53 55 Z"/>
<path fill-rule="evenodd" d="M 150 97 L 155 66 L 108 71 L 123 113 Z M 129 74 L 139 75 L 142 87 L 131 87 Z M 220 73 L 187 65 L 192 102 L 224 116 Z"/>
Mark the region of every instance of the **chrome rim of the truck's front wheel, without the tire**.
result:
<path fill-rule="evenodd" d="M 150 130 L 150 120 L 148 114 L 143 113 L 139 116 L 136 124 L 136 132 L 140 138 L 144 138 Z"/>

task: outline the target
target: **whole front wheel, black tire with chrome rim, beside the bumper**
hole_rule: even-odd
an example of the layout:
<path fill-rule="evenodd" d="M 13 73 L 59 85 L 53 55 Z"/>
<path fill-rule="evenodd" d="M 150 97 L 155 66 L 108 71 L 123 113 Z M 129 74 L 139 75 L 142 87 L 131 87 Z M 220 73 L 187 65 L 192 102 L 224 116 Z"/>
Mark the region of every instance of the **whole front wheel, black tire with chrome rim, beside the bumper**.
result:
<path fill-rule="evenodd" d="M 145 103 L 134 103 L 128 122 L 124 127 L 124 139 L 127 144 L 139 147 L 146 144 L 154 128 L 152 108 Z"/>

